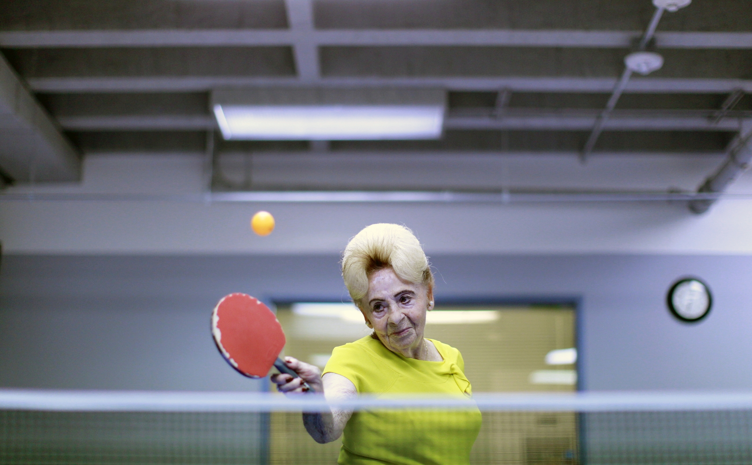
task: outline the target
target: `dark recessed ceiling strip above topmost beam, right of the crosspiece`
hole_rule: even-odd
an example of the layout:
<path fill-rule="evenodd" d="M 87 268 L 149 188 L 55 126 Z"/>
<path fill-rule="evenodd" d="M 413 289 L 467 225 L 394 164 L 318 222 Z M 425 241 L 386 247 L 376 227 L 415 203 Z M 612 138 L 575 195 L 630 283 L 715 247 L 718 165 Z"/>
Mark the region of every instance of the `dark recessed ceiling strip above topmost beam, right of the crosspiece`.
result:
<path fill-rule="evenodd" d="M 323 29 L 645 29 L 648 0 L 318 0 Z M 749 31 L 752 2 L 692 2 L 664 15 L 660 31 Z"/>

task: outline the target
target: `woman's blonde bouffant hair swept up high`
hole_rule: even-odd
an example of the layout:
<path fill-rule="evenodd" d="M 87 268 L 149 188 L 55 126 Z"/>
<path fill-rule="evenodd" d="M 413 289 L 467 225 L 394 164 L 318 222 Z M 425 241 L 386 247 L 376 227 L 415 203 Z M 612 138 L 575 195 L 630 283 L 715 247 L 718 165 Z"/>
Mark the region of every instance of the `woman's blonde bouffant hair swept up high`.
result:
<path fill-rule="evenodd" d="M 368 294 L 368 276 L 391 267 L 403 281 L 433 290 L 433 273 L 417 237 L 405 226 L 378 223 L 355 235 L 342 254 L 342 278 L 353 302 Z"/>

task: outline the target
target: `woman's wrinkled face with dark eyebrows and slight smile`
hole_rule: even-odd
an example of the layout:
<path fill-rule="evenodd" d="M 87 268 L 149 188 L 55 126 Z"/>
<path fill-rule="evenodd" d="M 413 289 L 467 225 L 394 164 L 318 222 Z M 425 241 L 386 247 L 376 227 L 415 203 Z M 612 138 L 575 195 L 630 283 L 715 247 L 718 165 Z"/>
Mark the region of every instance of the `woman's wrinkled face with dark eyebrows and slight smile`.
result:
<path fill-rule="evenodd" d="M 384 346 L 409 356 L 423 343 L 426 310 L 433 309 L 433 296 L 422 283 L 402 281 L 387 267 L 368 276 L 362 306 L 366 324 Z"/>

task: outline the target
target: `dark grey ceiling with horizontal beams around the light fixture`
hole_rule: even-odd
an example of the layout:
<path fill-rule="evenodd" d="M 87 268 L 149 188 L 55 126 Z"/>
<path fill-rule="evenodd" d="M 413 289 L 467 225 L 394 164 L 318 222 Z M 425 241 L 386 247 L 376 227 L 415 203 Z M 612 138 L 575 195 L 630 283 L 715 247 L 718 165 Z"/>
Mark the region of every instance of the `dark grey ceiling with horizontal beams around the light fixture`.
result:
<path fill-rule="evenodd" d="M 227 86 L 447 89 L 442 140 L 331 152 L 572 154 L 654 10 L 650 0 L 4 0 L 0 50 L 82 154 L 202 152 L 209 92 Z M 723 152 L 752 116 L 752 2 L 666 13 L 654 47 L 665 65 L 632 79 L 594 154 Z M 749 93 L 719 120 L 735 89 Z"/>

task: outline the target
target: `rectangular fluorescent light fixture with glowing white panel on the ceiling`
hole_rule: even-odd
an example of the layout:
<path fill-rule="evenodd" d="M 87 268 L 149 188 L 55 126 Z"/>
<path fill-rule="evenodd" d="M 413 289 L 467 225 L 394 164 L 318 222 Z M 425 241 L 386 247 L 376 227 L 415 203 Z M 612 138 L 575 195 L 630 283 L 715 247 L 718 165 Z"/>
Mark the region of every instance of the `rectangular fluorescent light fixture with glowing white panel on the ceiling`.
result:
<path fill-rule="evenodd" d="M 215 91 L 226 140 L 438 139 L 444 92 L 379 89 Z"/>

